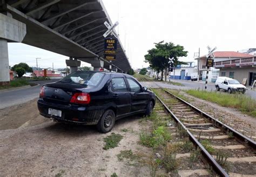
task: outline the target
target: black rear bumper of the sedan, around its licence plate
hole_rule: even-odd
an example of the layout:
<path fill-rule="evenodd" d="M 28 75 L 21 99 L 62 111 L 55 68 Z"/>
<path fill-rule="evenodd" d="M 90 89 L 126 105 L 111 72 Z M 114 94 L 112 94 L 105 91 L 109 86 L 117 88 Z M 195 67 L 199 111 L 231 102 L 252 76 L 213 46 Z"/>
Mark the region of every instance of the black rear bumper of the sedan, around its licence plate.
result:
<path fill-rule="evenodd" d="M 56 121 L 96 125 L 104 113 L 103 106 L 78 106 L 78 105 L 57 105 L 39 99 L 37 101 L 39 113 L 46 118 L 51 118 Z M 49 108 L 62 111 L 61 117 L 48 114 Z"/>

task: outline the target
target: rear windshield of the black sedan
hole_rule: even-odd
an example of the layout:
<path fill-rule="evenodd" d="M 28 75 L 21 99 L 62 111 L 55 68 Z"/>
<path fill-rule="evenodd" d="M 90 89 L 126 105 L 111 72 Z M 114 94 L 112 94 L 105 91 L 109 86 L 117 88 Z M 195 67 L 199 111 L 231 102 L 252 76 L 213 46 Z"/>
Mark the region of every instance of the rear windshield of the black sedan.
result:
<path fill-rule="evenodd" d="M 69 74 L 60 81 L 67 83 L 75 84 L 85 84 L 90 86 L 96 86 L 102 80 L 104 73 L 98 72 L 86 72 L 86 71 L 77 71 Z"/>

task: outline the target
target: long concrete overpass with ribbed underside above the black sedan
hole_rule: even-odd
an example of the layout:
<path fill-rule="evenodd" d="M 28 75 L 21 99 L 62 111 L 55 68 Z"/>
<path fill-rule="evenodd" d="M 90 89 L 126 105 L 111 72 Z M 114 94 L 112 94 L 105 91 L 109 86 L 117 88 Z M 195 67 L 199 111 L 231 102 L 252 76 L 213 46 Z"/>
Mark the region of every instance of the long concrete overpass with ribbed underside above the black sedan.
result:
<path fill-rule="evenodd" d="M 105 21 L 112 25 L 102 0 L 0 0 L 0 82 L 7 81 L 9 72 L 7 42 L 68 56 L 71 70 L 77 69 L 79 60 L 95 68 L 104 63 L 109 69 L 103 59 Z M 127 72 L 131 66 L 119 38 L 117 46 L 112 68 Z"/>

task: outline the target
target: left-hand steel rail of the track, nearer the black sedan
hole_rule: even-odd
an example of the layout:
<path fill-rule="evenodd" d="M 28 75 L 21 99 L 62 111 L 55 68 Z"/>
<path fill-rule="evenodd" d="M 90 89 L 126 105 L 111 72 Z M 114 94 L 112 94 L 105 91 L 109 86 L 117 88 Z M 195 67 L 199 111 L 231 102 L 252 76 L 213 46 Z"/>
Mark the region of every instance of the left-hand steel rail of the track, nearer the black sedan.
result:
<path fill-rule="evenodd" d="M 144 81 L 143 81 L 144 83 Z M 144 83 L 144 85 L 146 85 Z M 157 85 L 157 84 L 156 84 Z M 146 85 L 147 86 L 147 85 Z M 157 85 L 158 86 L 158 85 Z M 159 87 L 159 86 L 158 86 Z M 159 87 L 160 88 L 160 87 Z M 149 88 L 152 92 L 153 90 Z M 161 89 L 161 88 L 160 88 Z M 218 162 L 213 158 L 213 156 L 206 151 L 203 145 L 200 144 L 200 142 L 193 136 L 193 134 L 186 128 L 186 126 L 176 117 L 176 115 L 170 110 L 170 108 L 156 95 L 156 98 L 160 101 L 160 103 L 164 106 L 165 110 L 169 112 L 172 115 L 172 118 L 181 125 L 181 127 L 184 128 L 184 130 L 187 132 L 188 136 L 190 137 L 190 140 L 201 149 L 201 153 L 205 156 L 205 158 L 210 162 L 212 167 L 214 168 L 215 172 L 221 176 L 229 176 L 227 172 L 218 164 Z"/>

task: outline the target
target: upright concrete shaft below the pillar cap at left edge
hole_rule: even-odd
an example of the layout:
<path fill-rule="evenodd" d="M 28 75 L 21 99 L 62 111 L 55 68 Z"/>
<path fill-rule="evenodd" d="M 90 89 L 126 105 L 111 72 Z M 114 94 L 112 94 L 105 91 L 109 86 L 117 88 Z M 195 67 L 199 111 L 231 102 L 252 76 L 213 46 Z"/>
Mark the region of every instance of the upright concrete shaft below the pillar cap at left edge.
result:
<path fill-rule="evenodd" d="M 6 85 L 10 81 L 8 43 L 0 39 L 0 85 Z"/>

